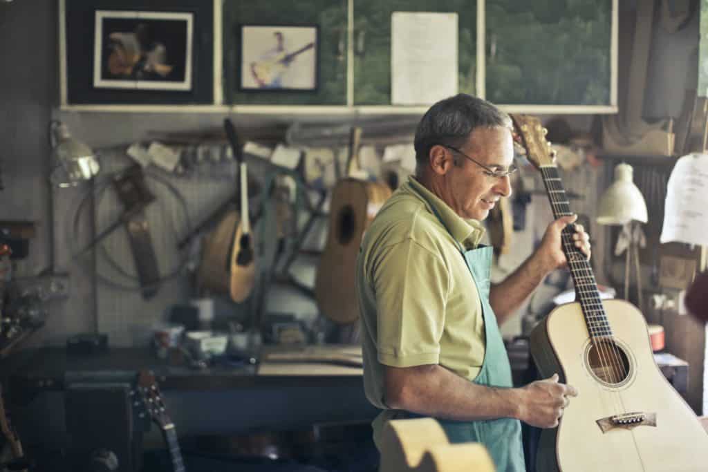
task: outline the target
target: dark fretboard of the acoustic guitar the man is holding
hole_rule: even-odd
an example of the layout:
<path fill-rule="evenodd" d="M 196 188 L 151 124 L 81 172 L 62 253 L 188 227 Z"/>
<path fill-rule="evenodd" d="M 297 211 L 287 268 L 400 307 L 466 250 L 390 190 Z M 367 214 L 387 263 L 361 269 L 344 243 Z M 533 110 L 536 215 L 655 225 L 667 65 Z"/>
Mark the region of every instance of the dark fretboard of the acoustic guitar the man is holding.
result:
<path fill-rule="evenodd" d="M 546 186 L 548 198 L 556 219 L 573 214 L 570 209 L 566 190 L 555 166 L 541 168 L 543 183 Z M 568 260 L 568 267 L 576 287 L 576 297 L 580 301 L 583 315 L 588 326 L 588 332 L 593 338 L 606 338 L 612 336 L 610 323 L 605 315 L 605 308 L 600 299 L 598 284 L 595 282 L 593 268 L 580 249 L 576 248 L 573 241 L 573 228 L 567 226 L 561 233 L 563 252 Z"/>

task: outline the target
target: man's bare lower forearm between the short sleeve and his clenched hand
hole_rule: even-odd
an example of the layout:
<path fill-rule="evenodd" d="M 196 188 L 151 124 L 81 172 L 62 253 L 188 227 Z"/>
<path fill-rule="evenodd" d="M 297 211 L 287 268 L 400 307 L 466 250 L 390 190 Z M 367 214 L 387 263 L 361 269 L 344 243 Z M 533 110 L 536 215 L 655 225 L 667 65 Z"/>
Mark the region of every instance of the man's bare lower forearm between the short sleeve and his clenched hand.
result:
<path fill-rule="evenodd" d="M 520 418 L 520 395 L 515 388 L 473 384 L 439 365 L 419 366 L 416 381 L 401 381 L 401 391 L 390 393 L 390 408 L 447 420 L 475 421 Z M 393 369 L 387 375 L 403 375 L 408 369 Z M 387 376 L 387 382 L 396 382 Z"/>

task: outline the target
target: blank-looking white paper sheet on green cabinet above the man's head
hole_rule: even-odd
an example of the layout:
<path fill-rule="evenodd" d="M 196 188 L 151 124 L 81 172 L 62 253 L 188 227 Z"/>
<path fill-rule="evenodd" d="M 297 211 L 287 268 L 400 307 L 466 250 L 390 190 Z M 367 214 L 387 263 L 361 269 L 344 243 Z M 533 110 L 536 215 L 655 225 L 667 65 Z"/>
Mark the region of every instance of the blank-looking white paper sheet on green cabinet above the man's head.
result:
<path fill-rule="evenodd" d="M 457 93 L 457 13 L 391 16 L 391 101 L 430 105 Z"/>

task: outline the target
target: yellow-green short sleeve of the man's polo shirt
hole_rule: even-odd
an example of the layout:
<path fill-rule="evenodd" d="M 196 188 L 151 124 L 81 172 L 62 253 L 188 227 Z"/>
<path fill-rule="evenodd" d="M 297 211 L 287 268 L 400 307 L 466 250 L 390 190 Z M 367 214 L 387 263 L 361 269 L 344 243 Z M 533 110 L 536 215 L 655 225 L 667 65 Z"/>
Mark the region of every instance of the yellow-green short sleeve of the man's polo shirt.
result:
<path fill-rule="evenodd" d="M 442 257 L 408 238 L 382 248 L 370 270 L 379 362 L 392 367 L 438 364 L 450 287 Z"/>

